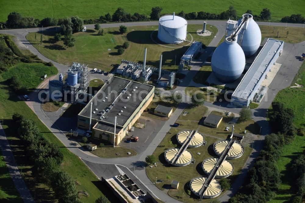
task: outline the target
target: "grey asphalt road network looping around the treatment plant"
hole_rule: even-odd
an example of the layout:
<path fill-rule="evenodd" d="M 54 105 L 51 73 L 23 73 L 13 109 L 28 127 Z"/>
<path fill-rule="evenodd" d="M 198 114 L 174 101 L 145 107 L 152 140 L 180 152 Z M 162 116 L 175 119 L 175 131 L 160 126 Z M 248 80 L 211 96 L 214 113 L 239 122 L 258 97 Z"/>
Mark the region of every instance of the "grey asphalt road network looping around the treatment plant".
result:
<path fill-rule="evenodd" d="M 210 55 L 210 53 L 213 51 L 213 47 L 216 47 L 218 42 L 221 40 L 223 33 L 224 33 L 224 25 L 226 21 L 216 21 L 216 20 L 209 20 L 208 23 L 212 24 L 217 27 L 218 33 L 216 34 L 215 38 L 211 41 L 211 43 L 208 45 L 208 48 L 206 49 L 206 52 L 201 56 L 202 61 L 205 61 L 206 57 Z M 203 20 L 189 20 L 189 24 L 202 24 Z M 259 25 L 269 25 L 268 22 L 257 22 Z M 101 24 L 102 28 L 106 27 L 119 27 L 123 23 L 109 23 L 109 24 Z M 132 23 L 124 23 L 125 26 L 143 26 L 143 25 L 158 25 L 158 21 L 149 21 L 149 22 L 132 22 Z M 286 23 L 270 23 L 271 26 L 286 26 Z M 87 28 L 93 28 L 94 25 L 86 25 Z M 287 24 L 287 27 L 303 27 L 303 24 Z M 55 29 L 47 28 L 47 29 Z M 27 30 L 27 31 L 26 31 Z M 67 70 L 67 66 L 59 64 L 57 62 L 51 61 L 50 59 L 46 58 L 45 56 L 41 55 L 25 38 L 25 35 L 27 32 L 34 32 L 41 30 L 41 28 L 29 28 L 29 29 L 16 29 L 16 30 L 6 30 L 7 34 L 15 35 L 20 41 L 20 44 L 18 44 L 21 48 L 28 48 L 31 52 L 38 55 L 38 57 L 46 62 L 53 62 L 54 65 L 59 69 L 59 72 L 64 72 Z M 0 30 L 0 33 L 4 33 L 4 30 Z M 246 172 L 248 171 L 249 167 L 251 167 L 254 163 L 255 158 L 259 154 L 259 151 L 263 147 L 263 140 L 264 135 L 270 133 L 270 127 L 268 126 L 268 123 L 265 118 L 266 110 L 269 108 L 271 102 L 273 101 L 276 93 L 285 88 L 288 87 L 293 80 L 298 67 L 300 67 L 301 62 L 296 59 L 295 56 L 298 56 L 303 50 L 304 50 L 305 42 L 299 43 L 299 44 L 284 44 L 284 53 L 281 57 L 278 59 L 278 63 L 281 63 L 282 66 L 275 76 L 274 80 L 269 86 L 269 89 L 267 91 L 267 94 L 265 96 L 265 101 L 261 102 L 259 107 L 257 109 L 253 110 L 254 113 L 254 120 L 257 121 L 257 123 L 262 127 L 260 140 L 254 143 L 254 150 L 253 153 L 250 155 L 249 159 L 246 160 L 245 166 L 242 169 L 241 174 L 238 176 L 236 181 L 232 184 L 231 189 L 226 192 L 224 195 L 222 195 L 219 200 L 221 202 L 227 202 L 228 199 L 235 194 L 235 192 L 238 190 L 238 188 L 242 185 Z M 188 72 L 187 76 L 183 79 L 183 82 L 179 84 L 179 87 L 175 89 L 175 91 L 180 90 L 184 91 L 185 87 L 188 86 L 192 78 L 195 76 L 197 71 L 200 68 L 201 63 L 194 63 L 194 66 L 192 67 L 191 71 Z M 99 77 L 97 77 L 99 78 Z M 104 79 L 104 78 L 103 78 Z M 40 102 L 37 99 L 37 93 L 34 92 L 30 95 L 31 101 L 33 101 L 32 108 L 38 115 L 38 117 L 42 120 L 42 122 L 45 123 L 46 126 L 58 137 L 58 139 L 63 142 L 63 144 L 75 155 L 79 156 L 84 160 L 85 163 L 88 164 L 88 166 L 98 175 L 102 175 L 102 173 L 97 172 L 100 170 L 105 171 L 105 165 L 110 164 L 113 165 L 115 163 L 120 164 L 120 168 L 126 173 L 128 173 L 133 179 L 139 179 L 143 184 L 141 184 L 141 188 L 144 191 L 151 191 L 156 197 L 160 198 L 163 201 L 172 201 L 177 202 L 177 200 L 171 198 L 167 194 L 164 194 L 162 191 L 160 191 L 158 188 L 154 186 L 154 184 L 148 179 L 146 176 L 145 170 L 142 169 L 143 161 L 145 160 L 146 155 L 150 155 L 155 151 L 156 146 L 160 143 L 160 141 L 163 139 L 165 134 L 170 130 L 170 125 L 173 124 L 178 116 L 180 116 L 182 110 L 188 105 L 188 102 L 182 103 L 181 106 L 173 113 L 173 116 L 164 123 L 163 127 L 160 129 L 160 131 L 156 134 L 155 138 L 151 141 L 149 146 L 145 151 L 142 153 L 139 153 L 137 156 L 133 156 L 130 158 L 117 158 L 117 159 L 103 159 L 99 157 L 94 157 L 90 155 L 90 152 L 86 152 L 84 150 L 81 150 L 76 143 L 73 141 L 67 140 L 66 136 L 64 136 L 64 132 L 59 130 L 59 128 L 56 125 L 56 122 L 52 121 L 52 119 L 48 118 L 48 116 L 45 115 L 45 113 L 41 110 Z M 185 96 L 185 95 L 184 95 Z M 186 96 L 185 96 L 186 97 Z M 208 107 L 215 107 L 215 105 L 221 105 L 221 110 L 230 110 L 231 112 L 238 113 L 239 109 L 232 109 L 225 107 L 225 102 L 222 103 L 209 103 L 205 102 L 205 105 Z M 90 164 L 89 164 L 90 163 Z M 109 167 L 109 166 L 107 166 Z M 113 167 L 113 166 L 110 166 Z M 130 169 L 133 169 L 135 167 L 135 174 L 131 172 Z M 116 171 L 114 171 L 116 173 Z M 109 174 L 110 176 L 113 174 Z"/>

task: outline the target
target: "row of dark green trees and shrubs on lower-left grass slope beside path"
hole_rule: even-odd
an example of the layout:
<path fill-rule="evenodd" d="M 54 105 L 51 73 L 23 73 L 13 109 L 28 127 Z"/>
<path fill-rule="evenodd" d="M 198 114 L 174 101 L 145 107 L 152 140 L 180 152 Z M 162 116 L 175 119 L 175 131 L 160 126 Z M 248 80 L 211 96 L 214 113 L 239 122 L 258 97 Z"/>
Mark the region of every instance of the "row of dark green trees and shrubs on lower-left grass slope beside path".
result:
<path fill-rule="evenodd" d="M 13 122 L 27 157 L 34 164 L 32 175 L 51 187 L 59 202 L 78 202 L 74 180 L 59 169 L 63 162 L 63 153 L 59 147 L 42 137 L 33 120 L 24 119 L 20 114 L 14 113 Z"/>

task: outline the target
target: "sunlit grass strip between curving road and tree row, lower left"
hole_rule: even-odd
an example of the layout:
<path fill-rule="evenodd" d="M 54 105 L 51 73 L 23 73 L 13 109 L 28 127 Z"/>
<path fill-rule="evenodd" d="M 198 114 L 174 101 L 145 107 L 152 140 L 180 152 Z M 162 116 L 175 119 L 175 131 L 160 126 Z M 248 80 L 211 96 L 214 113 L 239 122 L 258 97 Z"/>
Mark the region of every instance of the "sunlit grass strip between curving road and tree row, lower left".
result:
<path fill-rule="evenodd" d="M 18 66 L 15 66 L 14 68 L 16 67 Z M 24 73 L 21 72 L 20 74 Z M 33 87 L 34 86 L 29 86 L 29 88 Z M 72 154 L 66 147 L 64 147 L 64 145 L 54 136 L 54 134 L 52 134 L 50 130 L 48 130 L 48 128 L 38 119 L 34 112 L 23 101 L 20 101 L 16 95 L 7 88 L 5 84 L 3 84 L 3 78 L 0 76 L 0 114 L 5 119 L 5 133 L 10 141 L 17 140 L 16 142 L 18 142 L 18 138 L 15 137 L 16 135 L 12 130 L 13 125 L 11 118 L 14 112 L 19 112 L 25 118 L 34 120 L 35 123 L 37 123 L 43 136 L 51 143 L 54 143 L 60 147 L 64 155 L 61 169 L 69 173 L 73 179 L 78 180 L 81 183 L 80 186 L 77 186 L 77 190 L 85 190 L 90 194 L 90 197 L 85 199 L 82 198 L 82 201 L 94 202 L 95 199 L 102 195 L 102 192 L 100 191 L 102 189 L 102 183 L 77 156 Z M 22 150 L 22 148 L 16 148 L 14 155 L 18 155 L 18 150 Z M 27 166 L 23 166 L 26 170 L 23 170 L 24 172 L 22 175 L 26 180 L 33 181 L 30 177 L 31 165 L 28 162 L 24 162 L 23 164 L 26 164 Z M 28 187 L 33 194 L 34 190 L 37 191 L 39 188 L 45 186 L 38 184 L 37 186 L 28 185 Z M 36 196 L 37 195 L 38 194 L 36 193 Z"/>

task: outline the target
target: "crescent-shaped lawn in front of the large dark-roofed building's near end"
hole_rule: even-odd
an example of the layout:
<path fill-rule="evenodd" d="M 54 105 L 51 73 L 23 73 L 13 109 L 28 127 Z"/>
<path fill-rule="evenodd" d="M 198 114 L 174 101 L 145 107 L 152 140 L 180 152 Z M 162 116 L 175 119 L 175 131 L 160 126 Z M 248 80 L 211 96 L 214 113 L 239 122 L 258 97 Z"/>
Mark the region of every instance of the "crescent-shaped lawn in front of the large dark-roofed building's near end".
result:
<path fill-rule="evenodd" d="M 87 143 L 82 143 L 80 139 L 78 143 L 86 149 L 87 149 L 87 143 L 96 144 L 97 145 L 96 150 L 90 152 L 102 158 L 122 158 L 122 157 L 130 157 L 137 155 L 137 152 L 132 149 L 128 149 L 121 146 L 116 146 L 115 148 L 113 148 L 113 145 L 108 143 L 105 143 L 105 146 L 100 148 L 99 147 L 100 141 L 95 139 L 90 139 Z M 131 154 L 128 155 L 127 152 L 130 152 Z"/>

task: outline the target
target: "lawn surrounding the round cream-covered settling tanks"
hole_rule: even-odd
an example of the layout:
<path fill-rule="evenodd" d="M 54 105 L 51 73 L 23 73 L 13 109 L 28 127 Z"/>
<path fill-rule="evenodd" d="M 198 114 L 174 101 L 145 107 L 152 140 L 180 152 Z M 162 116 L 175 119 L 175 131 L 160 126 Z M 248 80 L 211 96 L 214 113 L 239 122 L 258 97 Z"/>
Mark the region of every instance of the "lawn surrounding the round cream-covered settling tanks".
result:
<path fill-rule="evenodd" d="M 197 107 L 197 109 L 186 109 L 185 111 L 188 112 L 195 112 L 195 111 L 201 110 L 200 107 Z M 204 110 L 204 108 L 203 108 Z M 165 188 L 169 187 L 169 183 L 172 180 L 178 180 L 179 188 L 176 189 L 170 189 L 168 194 L 180 201 L 182 201 L 183 193 L 184 193 L 184 201 L 185 202 L 199 202 L 199 198 L 195 196 L 194 194 L 191 194 L 191 197 L 187 195 L 187 190 L 189 190 L 188 183 L 192 178 L 196 176 L 203 176 L 205 173 L 203 173 L 203 170 L 201 168 L 202 161 L 205 158 L 213 157 L 215 156 L 213 150 L 210 148 L 211 145 L 213 145 L 214 142 L 216 142 L 218 139 L 214 137 L 209 137 L 206 135 L 206 130 L 204 126 L 198 125 L 198 122 L 188 122 L 188 121 L 182 121 L 185 116 L 180 116 L 178 118 L 180 126 L 178 127 L 172 127 L 170 131 L 167 133 L 167 135 L 164 137 L 163 141 L 160 143 L 160 145 L 156 148 L 153 155 L 157 157 L 157 167 L 146 167 L 146 174 L 150 178 L 150 180 L 155 183 L 156 177 L 157 177 L 157 184 L 156 186 L 160 190 L 164 190 Z M 164 158 L 164 152 L 171 147 L 180 145 L 177 142 L 176 134 L 180 130 L 186 130 L 186 129 L 194 129 L 198 130 L 199 132 L 203 133 L 205 140 L 207 141 L 206 146 L 201 146 L 199 148 L 189 148 L 187 149 L 190 151 L 193 155 L 193 158 L 196 159 L 195 163 L 188 166 L 182 166 L 182 167 L 175 167 L 168 165 Z M 245 147 L 245 154 L 238 159 L 230 160 L 230 162 L 234 165 L 235 170 L 231 176 L 229 176 L 229 179 L 231 180 L 231 183 L 235 180 L 237 175 L 240 172 L 240 169 L 242 167 L 242 164 L 245 163 L 245 160 L 249 157 L 252 149 L 249 148 L 249 146 Z M 200 155 L 197 155 L 197 152 L 200 152 Z M 244 160 L 242 160 L 244 159 Z M 166 176 L 170 176 L 170 180 L 166 179 Z M 209 202 L 210 200 L 203 200 L 204 202 Z"/>

